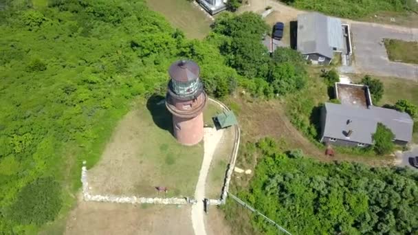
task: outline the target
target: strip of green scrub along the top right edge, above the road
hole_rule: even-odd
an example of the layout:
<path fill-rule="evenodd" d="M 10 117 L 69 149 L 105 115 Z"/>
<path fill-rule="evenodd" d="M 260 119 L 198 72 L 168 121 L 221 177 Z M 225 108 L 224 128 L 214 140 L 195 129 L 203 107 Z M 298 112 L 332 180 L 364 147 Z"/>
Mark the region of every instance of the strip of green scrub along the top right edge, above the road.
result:
<path fill-rule="evenodd" d="M 305 10 L 324 12 L 325 14 L 340 16 L 349 19 L 358 19 L 364 16 L 374 15 L 377 12 L 408 12 L 416 11 L 415 0 L 350 0 L 333 1 L 325 0 L 320 3 L 316 0 L 282 0 L 283 2 Z"/>

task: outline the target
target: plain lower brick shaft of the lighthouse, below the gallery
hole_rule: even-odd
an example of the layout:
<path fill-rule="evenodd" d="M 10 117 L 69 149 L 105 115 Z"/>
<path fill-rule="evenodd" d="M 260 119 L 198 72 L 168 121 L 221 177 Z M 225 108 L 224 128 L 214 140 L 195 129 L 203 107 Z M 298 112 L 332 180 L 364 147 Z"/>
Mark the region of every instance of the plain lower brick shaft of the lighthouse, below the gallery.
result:
<path fill-rule="evenodd" d="M 173 115 L 173 130 L 180 144 L 186 146 L 198 144 L 203 139 L 203 113 L 192 118 Z"/>

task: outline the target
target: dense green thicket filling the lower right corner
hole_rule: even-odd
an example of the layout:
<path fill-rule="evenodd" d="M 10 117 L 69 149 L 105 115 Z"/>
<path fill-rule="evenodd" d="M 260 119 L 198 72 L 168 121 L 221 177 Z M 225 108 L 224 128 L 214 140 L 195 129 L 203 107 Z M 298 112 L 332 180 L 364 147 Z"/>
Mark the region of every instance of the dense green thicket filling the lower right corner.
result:
<path fill-rule="evenodd" d="M 236 194 L 292 234 L 411 234 L 418 230 L 417 172 L 322 163 L 302 157 L 300 151 L 284 154 L 270 138 L 253 145 L 252 151 L 261 157 L 248 189 L 240 188 Z M 240 207 L 230 200 L 225 212 L 234 214 Z M 250 216 L 254 234 L 277 234 L 277 228 L 261 216 Z M 227 218 L 241 226 L 235 216 Z"/>

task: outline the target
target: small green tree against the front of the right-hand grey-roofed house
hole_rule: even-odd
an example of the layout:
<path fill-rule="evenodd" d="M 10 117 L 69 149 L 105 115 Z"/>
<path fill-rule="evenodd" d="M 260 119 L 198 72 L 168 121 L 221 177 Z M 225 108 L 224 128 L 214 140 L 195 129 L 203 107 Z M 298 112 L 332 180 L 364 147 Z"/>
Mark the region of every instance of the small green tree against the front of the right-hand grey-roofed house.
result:
<path fill-rule="evenodd" d="M 395 144 L 393 144 L 393 135 L 391 129 L 386 127 L 382 123 L 377 123 L 376 132 L 373 134 L 373 141 L 375 152 L 379 155 L 385 155 L 391 153 Z"/>

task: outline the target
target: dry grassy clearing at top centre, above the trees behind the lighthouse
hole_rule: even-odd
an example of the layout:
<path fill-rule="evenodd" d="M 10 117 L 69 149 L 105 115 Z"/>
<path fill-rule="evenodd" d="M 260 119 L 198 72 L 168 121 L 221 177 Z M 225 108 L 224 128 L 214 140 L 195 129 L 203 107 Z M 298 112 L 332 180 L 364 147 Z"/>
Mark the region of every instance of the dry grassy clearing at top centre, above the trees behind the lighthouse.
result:
<path fill-rule="evenodd" d="M 204 38 L 210 32 L 209 19 L 201 8 L 187 0 L 146 0 L 151 10 L 164 15 L 173 27 L 178 27 L 188 38 Z"/>

